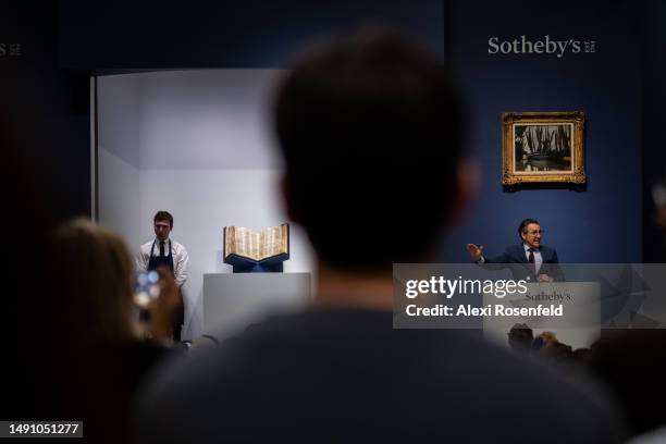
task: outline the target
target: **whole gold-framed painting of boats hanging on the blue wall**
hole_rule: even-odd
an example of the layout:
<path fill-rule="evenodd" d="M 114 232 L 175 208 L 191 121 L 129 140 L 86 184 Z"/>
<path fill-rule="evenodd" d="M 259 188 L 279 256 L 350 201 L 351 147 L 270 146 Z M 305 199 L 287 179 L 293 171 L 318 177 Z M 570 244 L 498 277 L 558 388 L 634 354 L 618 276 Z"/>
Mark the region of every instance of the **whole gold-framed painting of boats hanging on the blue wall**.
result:
<path fill-rule="evenodd" d="M 584 122 L 580 111 L 502 114 L 502 185 L 584 184 Z"/>

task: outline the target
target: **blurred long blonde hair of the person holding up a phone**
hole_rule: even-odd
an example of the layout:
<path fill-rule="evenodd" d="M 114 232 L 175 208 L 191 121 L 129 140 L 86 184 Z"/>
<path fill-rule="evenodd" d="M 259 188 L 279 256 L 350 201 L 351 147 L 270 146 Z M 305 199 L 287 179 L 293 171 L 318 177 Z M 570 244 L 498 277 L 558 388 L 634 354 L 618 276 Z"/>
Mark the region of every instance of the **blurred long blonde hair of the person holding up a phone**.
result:
<path fill-rule="evenodd" d="M 76 325 L 83 346 L 133 340 L 133 267 L 121 237 L 81 218 L 61 225 L 54 243 L 67 298 L 63 325 Z"/>

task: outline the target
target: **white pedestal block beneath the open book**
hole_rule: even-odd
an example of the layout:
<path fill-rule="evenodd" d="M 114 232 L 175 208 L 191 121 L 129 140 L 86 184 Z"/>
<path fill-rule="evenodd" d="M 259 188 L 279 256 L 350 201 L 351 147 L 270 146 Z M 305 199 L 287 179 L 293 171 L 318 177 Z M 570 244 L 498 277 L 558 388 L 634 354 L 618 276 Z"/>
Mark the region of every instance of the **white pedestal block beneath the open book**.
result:
<path fill-rule="evenodd" d="M 307 307 L 310 273 L 203 274 L 203 334 L 224 340 L 275 312 Z"/>

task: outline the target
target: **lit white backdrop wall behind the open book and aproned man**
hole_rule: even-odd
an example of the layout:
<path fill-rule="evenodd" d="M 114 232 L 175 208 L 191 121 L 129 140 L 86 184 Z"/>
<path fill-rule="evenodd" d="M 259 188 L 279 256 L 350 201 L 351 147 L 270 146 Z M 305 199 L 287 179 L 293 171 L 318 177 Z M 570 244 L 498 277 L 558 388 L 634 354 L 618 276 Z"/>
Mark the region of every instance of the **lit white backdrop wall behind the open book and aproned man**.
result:
<path fill-rule="evenodd" d="M 120 232 L 135 252 L 153 237 L 156 211 L 174 215 L 172 238 L 190 258 L 184 338 L 201 333 L 203 273 L 231 272 L 222 263 L 223 226 L 262 229 L 287 221 L 268 121 L 280 73 L 171 71 L 98 83 L 100 222 Z M 309 243 L 295 225 L 291 247 L 285 272 L 312 272 Z"/>

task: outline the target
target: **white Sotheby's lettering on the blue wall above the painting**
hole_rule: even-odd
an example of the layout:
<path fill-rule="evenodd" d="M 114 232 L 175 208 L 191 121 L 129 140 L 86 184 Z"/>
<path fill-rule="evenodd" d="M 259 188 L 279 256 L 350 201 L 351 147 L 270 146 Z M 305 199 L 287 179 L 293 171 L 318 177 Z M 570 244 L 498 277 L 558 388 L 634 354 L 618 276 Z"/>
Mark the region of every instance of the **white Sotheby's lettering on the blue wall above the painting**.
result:
<path fill-rule="evenodd" d="M 557 39 L 547 34 L 535 38 L 522 35 L 516 38 L 493 36 L 488 39 L 489 54 L 544 54 L 562 59 L 567 54 L 595 51 L 594 40 Z"/>

